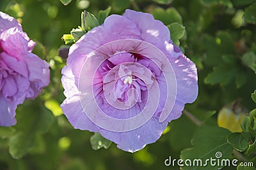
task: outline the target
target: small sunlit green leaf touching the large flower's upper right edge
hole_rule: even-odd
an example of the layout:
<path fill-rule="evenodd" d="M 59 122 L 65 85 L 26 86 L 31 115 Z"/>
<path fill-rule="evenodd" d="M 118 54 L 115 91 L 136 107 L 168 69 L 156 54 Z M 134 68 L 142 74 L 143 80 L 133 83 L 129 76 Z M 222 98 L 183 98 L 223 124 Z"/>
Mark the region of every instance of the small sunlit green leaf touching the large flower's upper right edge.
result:
<path fill-rule="evenodd" d="M 181 39 L 185 34 L 185 27 L 180 25 L 179 23 L 175 22 L 167 26 L 170 30 L 171 39 L 173 43 L 177 46 L 179 46 L 180 42 L 179 39 Z"/>

